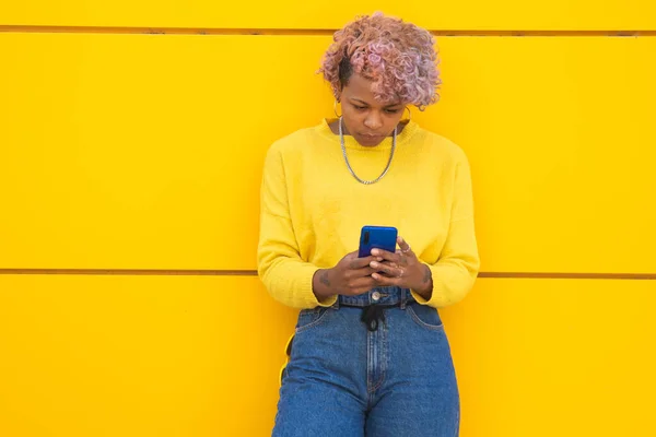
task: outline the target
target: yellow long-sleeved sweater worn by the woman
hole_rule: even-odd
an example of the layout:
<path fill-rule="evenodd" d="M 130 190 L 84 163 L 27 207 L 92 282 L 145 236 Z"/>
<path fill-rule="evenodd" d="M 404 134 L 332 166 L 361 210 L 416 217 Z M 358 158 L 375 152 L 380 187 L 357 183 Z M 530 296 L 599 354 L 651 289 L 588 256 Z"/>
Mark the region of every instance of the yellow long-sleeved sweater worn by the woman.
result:
<path fill-rule="evenodd" d="M 479 270 L 471 177 L 467 156 L 447 139 L 410 121 L 397 137 L 389 172 L 373 185 L 349 173 L 339 137 L 324 119 L 274 142 L 263 167 L 258 273 L 277 300 L 295 308 L 319 302 L 313 275 L 358 249 L 364 225 L 396 226 L 433 274 L 435 308 L 471 290 Z M 351 167 L 361 179 L 385 168 L 391 138 L 375 147 L 344 135 Z"/>

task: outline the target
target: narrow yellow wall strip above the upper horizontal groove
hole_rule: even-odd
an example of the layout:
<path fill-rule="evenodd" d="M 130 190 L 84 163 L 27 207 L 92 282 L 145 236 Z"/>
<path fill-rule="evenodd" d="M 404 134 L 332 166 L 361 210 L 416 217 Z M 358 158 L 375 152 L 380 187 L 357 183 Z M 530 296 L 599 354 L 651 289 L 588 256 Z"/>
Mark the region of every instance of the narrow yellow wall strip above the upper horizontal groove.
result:
<path fill-rule="evenodd" d="M 0 4 L 2 24 L 332 29 L 376 10 L 446 31 L 654 31 L 652 0 L 23 0 Z"/>

